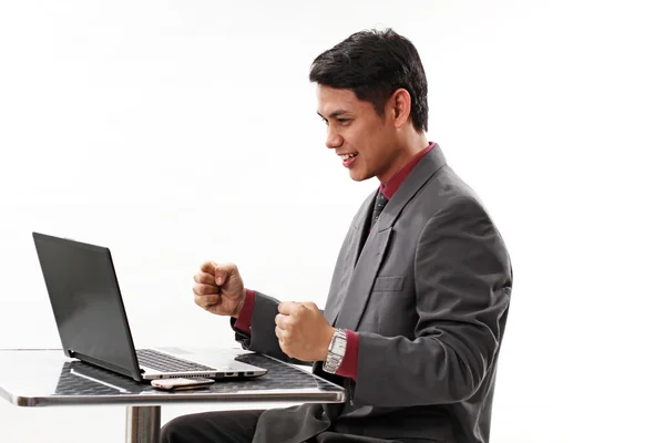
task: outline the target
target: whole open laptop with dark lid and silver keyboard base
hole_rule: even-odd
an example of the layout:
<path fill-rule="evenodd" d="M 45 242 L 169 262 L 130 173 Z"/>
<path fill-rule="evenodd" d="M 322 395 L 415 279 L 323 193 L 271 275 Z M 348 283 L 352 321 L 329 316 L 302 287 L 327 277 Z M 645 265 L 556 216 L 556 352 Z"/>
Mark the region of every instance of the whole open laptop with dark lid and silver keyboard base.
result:
<path fill-rule="evenodd" d="M 134 348 L 111 250 L 32 233 L 62 349 L 75 358 L 136 381 L 178 377 L 253 378 L 266 369 L 219 352 L 207 361 L 182 352 Z M 192 354 L 191 357 L 194 357 Z"/>

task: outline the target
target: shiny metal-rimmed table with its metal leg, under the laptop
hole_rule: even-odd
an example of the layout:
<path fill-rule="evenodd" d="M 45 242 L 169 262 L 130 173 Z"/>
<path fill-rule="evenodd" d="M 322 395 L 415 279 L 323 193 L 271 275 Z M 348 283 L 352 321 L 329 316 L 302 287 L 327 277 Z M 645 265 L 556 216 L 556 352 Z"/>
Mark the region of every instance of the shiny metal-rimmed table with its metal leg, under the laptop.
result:
<path fill-rule="evenodd" d="M 81 363 L 59 349 L 0 350 L 0 396 L 18 406 L 125 405 L 126 442 L 132 443 L 158 442 L 163 404 L 239 402 L 253 409 L 266 401 L 284 401 L 285 405 L 345 401 L 344 388 L 298 367 L 242 350 L 237 353 L 237 360 L 265 368 L 268 373 L 168 392 Z"/>

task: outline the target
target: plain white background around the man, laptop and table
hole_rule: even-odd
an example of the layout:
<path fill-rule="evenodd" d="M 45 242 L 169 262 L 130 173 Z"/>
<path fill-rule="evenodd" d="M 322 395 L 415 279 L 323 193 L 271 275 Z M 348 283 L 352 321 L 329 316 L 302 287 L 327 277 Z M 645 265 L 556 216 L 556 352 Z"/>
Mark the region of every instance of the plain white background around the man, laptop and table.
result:
<path fill-rule="evenodd" d="M 308 68 L 392 27 L 426 68 L 428 138 L 513 259 L 492 442 L 665 441 L 664 16 L 659 1 L 2 1 L 0 348 L 60 346 L 32 230 L 111 248 L 140 347 L 232 344 L 192 301 L 205 259 L 323 305 L 377 183 L 325 148 Z M 123 426 L 123 408 L 0 402 L 2 442 L 119 442 Z"/>

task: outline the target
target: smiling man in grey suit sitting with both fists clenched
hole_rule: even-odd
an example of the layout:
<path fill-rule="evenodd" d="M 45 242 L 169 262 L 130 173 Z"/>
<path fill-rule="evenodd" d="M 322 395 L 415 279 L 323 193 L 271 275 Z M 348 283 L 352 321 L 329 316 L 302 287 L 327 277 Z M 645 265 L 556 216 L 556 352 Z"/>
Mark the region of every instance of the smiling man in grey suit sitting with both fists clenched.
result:
<path fill-rule="evenodd" d="M 512 270 L 480 199 L 429 143 L 427 80 L 392 30 L 358 32 L 315 59 L 326 145 L 380 186 L 341 245 L 325 311 L 246 289 L 205 262 L 195 301 L 231 316 L 253 351 L 314 362 L 344 405 L 178 418 L 163 442 L 488 442 Z"/>

